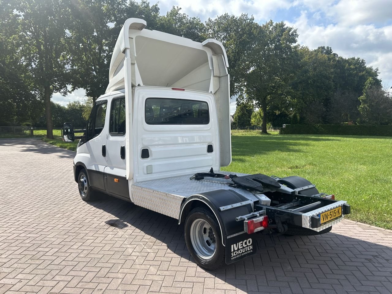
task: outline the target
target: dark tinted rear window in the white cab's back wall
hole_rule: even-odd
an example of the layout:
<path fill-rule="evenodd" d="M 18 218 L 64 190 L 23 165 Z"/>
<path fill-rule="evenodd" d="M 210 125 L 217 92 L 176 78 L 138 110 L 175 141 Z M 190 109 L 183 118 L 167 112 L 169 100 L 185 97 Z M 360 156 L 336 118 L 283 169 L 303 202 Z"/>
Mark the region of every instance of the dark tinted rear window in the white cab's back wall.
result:
<path fill-rule="evenodd" d="M 206 125 L 210 122 L 207 102 L 174 98 L 147 98 L 145 122 L 149 125 Z"/>

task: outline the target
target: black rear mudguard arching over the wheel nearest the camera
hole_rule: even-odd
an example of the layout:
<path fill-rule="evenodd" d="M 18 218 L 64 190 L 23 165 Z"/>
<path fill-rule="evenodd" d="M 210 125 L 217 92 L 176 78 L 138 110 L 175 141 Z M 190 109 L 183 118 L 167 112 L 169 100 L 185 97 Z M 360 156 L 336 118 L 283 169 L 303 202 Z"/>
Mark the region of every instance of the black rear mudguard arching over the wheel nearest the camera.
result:
<path fill-rule="evenodd" d="M 249 201 L 249 199 L 233 190 L 216 190 L 195 194 L 186 198 L 181 205 L 178 224 L 185 221 L 192 204 L 196 204 L 195 201 L 204 203 L 214 213 L 221 229 L 223 246 L 226 246 L 227 236 L 243 232 L 244 230 L 243 221 L 236 221 L 236 217 L 253 212 L 253 203 L 247 203 L 221 211 L 220 207 Z"/>

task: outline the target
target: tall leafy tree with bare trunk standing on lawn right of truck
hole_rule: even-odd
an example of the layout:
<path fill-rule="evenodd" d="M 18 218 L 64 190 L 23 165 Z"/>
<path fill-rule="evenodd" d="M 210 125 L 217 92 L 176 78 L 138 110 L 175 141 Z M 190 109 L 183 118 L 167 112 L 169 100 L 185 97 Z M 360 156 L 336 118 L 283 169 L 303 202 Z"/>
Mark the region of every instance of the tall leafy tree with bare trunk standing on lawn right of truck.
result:
<path fill-rule="evenodd" d="M 298 34 L 296 29 L 283 22 L 274 24 L 272 20 L 258 26 L 254 34 L 256 42 L 246 58 L 243 98 L 254 101 L 266 114 L 269 105 L 287 99 L 287 85 L 295 73 Z M 267 133 L 266 115 L 263 115 L 261 132 Z"/>

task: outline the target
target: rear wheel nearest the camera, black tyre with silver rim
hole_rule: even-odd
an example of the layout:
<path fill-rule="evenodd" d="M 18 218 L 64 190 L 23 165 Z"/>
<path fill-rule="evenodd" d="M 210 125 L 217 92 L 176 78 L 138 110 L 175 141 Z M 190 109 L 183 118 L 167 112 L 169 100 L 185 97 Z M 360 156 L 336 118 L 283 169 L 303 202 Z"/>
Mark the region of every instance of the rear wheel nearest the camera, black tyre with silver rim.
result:
<path fill-rule="evenodd" d="M 196 263 L 206 270 L 225 263 L 225 247 L 218 221 L 211 211 L 195 208 L 185 220 L 185 243 Z"/>

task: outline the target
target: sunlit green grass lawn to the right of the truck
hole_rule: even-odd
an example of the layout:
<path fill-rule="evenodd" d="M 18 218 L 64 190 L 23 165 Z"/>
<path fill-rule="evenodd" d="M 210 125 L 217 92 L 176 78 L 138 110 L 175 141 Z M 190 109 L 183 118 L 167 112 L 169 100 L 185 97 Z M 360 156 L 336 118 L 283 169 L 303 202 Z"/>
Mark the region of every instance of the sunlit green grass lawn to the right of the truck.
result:
<path fill-rule="evenodd" d="M 225 171 L 302 176 L 351 205 L 350 220 L 392 229 L 392 138 L 232 132 Z"/>

